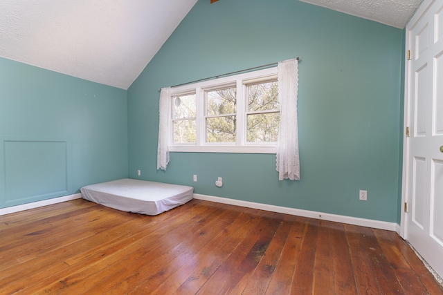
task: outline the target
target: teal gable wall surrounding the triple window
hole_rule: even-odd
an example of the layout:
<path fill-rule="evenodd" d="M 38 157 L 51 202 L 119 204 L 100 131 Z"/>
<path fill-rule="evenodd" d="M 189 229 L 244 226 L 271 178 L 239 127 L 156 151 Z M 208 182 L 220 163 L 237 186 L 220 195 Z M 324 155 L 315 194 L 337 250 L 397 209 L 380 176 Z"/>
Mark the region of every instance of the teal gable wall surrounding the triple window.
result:
<path fill-rule="evenodd" d="M 397 28 L 295 0 L 198 1 L 128 89 L 129 176 L 396 222 L 403 38 Z M 167 171 L 156 170 L 159 88 L 297 56 L 300 181 L 278 181 L 275 155 L 171 153 Z M 218 176 L 224 187 L 215 187 Z"/>

